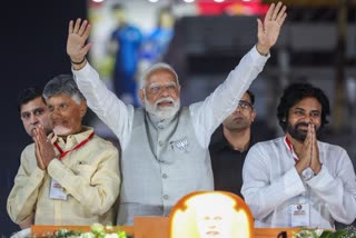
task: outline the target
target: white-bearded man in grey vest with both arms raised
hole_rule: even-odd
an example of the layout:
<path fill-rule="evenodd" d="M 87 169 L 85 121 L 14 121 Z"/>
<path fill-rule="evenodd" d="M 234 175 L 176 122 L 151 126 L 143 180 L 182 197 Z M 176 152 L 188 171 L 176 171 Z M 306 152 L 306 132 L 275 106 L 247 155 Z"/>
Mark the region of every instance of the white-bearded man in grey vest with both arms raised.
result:
<path fill-rule="evenodd" d="M 167 63 L 144 73 L 139 93 L 145 108 L 125 105 L 86 60 L 91 26 L 87 20 L 70 21 L 67 53 L 75 79 L 122 149 L 119 225 L 132 224 L 136 216 L 169 216 L 181 197 L 214 189 L 210 137 L 263 70 L 285 19 L 286 7 L 273 3 L 264 21 L 258 19 L 256 47 L 205 101 L 184 108 L 178 76 Z"/>

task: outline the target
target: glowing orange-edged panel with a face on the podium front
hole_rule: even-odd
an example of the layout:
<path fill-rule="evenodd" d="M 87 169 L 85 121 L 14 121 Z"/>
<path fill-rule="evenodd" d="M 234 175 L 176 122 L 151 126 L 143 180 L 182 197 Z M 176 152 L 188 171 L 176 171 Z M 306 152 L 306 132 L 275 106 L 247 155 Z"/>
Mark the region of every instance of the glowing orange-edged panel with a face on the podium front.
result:
<path fill-rule="evenodd" d="M 245 201 L 224 191 L 197 191 L 169 215 L 170 238 L 251 238 L 254 218 Z"/>

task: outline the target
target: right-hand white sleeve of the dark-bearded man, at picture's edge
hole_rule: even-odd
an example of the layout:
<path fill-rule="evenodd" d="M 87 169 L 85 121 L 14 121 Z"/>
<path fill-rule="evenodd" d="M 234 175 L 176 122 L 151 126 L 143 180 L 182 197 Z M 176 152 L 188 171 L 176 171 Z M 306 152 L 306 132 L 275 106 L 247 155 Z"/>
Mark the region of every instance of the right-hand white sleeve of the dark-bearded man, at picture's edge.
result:
<path fill-rule="evenodd" d="M 324 162 L 320 172 L 307 184 L 326 205 L 333 218 L 343 224 L 352 224 L 356 218 L 356 178 L 347 152 L 340 147 L 319 143 Z M 322 160 L 322 162 L 323 162 Z M 333 165 L 333 166 L 329 166 Z"/>

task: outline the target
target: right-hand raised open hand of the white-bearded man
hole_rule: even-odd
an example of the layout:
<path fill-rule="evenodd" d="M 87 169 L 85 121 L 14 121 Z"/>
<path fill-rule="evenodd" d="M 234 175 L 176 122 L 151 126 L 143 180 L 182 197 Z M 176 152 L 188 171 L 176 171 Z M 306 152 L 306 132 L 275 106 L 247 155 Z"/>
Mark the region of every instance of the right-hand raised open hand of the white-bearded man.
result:
<path fill-rule="evenodd" d="M 286 6 L 283 6 L 281 2 L 278 2 L 277 4 L 271 3 L 265 16 L 264 22 L 260 19 L 257 19 L 257 50 L 259 53 L 267 54 L 269 49 L 277 42 L 280 28 L 287 17 L 286 9 Z"/>

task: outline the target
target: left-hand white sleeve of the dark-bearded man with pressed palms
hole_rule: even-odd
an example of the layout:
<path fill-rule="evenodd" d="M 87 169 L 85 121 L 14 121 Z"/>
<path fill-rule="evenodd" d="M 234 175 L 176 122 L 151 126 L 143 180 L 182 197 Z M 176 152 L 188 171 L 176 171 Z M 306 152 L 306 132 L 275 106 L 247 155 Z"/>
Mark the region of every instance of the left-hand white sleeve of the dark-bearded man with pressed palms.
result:
<path fill-rule="evenodd" d="M 278 206 L 305 191 L 305 186 L 293 166 L 293 158 L 281 162 L 275 148 L 271 147 L 269 151 L 261 143 L 253 146 L 243 169 L 241 194 L 258 220 L 264 220 Z M 288 167 L 288 160 L 291 166 L 284 170 Z"/>

